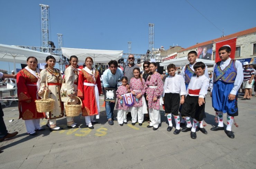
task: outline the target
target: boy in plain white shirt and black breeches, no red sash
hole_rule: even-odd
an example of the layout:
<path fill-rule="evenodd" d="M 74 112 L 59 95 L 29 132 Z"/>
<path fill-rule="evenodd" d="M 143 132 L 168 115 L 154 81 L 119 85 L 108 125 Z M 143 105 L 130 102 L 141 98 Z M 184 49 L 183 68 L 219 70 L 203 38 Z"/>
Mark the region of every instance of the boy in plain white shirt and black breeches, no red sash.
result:
<path fill-rule="evenodd" d="M 176 74 L 176 66 L 174 64 L 169 64 L 167 66 L 167 71 L 169 76 L 164 82 L 164 105 L 165 113 L 167 114 L 167 119 L 169 126 L 167 131 L 171 131 L 172 126 L 172 114 L 175 119 L 176 129 L 173 132 L 175 135 L 181 132 L 180 129 L 180 116 L 179 107 L 180 104 L 184 103 L 184 95 L 186 94 L 186 87 L 184 79 L 181 75 Z M 180 97 L 181 96 L 181 97 Z"/>

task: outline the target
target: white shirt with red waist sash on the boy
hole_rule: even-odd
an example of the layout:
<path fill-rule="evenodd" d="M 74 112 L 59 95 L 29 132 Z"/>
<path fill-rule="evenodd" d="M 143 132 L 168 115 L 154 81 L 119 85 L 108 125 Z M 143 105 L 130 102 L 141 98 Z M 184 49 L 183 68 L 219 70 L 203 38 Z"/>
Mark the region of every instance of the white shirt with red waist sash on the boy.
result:
<path fill-rule="evenodd" d="M 204 74 L 202 76 L 192 76 L 186 95 L 199 96 L 199 98 L 205 98 L 209 88 L 209 78 Z"/>

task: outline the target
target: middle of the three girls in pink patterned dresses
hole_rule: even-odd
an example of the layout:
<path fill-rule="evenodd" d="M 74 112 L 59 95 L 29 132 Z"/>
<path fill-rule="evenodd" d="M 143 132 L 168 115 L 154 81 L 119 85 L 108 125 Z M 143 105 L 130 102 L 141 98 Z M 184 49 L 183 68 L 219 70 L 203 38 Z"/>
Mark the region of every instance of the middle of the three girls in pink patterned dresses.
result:
<path fill-rule="evenodd" d="M 145 103 L 144 93 L 146 92 L 145 80 L 140 77 L 139 68 L 133 69 L 134 77 L 130 80 L 130 90 L 134 98 L 134 105 L 131 108 L 131 124 L 135 125 L 138 122 L 142 125 L 144 114 L 143 114 L 143 103 Z M 145 110 L 147 113 L 147 109 Z"/>

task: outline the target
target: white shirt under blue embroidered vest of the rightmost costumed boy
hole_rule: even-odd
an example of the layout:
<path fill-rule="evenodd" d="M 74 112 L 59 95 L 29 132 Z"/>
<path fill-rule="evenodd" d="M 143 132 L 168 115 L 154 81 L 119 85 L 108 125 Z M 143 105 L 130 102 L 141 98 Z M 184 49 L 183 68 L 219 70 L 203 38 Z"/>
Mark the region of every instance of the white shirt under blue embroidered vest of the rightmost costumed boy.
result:
<path fill-rule="evenodd" d="M 220 62 L 220 68 L 221 70 L 225 69 L 228 64 L 230 63 L 230 60 L 231 58 L 228 58 L 226 61 L 221 61 Z M 216 64 L 214 64 L 213 66 L 213 70 L 215 68 Z M 230 94 L 232 95 L 236 95 L 237 91 L 239 90 L 241 84 L 243 83 L 243 80 L 244 80 L 244 73 L 243 73 L 243 66 L 242 66 L 242 63 L 238 60 L 235 61 L 235 67 L 236 67 L 236 70 L 237 70 L 237 75 L 236 75 L 236 79 L 235 79 L 235 82 L 234 82 L 234 87 L 233 89 L 230 91 Z M 219 79 L 221 80 L 221 79 Z M 211 83 L 210 83 L 210 88 L 211 88 L 211 92 L 212 92 L 212 88 L 213 88 L 213 75 L 212 75 L 212 80 L 211 80 Z"/>

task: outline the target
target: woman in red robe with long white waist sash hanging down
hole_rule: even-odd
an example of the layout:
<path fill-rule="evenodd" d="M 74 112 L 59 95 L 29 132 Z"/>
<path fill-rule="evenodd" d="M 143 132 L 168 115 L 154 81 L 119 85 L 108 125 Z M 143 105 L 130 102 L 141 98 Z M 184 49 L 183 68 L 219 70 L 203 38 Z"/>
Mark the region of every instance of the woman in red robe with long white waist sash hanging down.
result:
<path fill-rule="evenodd" d="M 92 68 L 93 60 L 91 57 L 85 59 L 85 66 L 79 73 L 77 96 L 82 98 L 82 116 L 85 116 L 86 125 L 94 129 L 92 123 L 94 115 L 99 119 L 99 93 L 102 94 L 99 71 Z"/>

